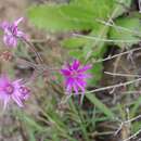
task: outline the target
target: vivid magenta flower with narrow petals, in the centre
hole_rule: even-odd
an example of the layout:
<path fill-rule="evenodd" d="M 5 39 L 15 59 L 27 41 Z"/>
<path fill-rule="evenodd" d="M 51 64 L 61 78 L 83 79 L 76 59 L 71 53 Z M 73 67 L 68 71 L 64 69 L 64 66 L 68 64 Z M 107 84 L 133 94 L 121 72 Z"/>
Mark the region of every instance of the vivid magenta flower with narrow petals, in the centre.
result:
<path fill-rule="evenodd" d="M 78 60 L 74 60 L 72 64 L 66 64 L 61 74 L 65 77 L 65 87 L 67 92 L 75 91 L 78 94 L 79 90 L 85 93 L 85 88 L 87 86 L 87 78 L 90 78 L 89 74 L 86 74 L 91 65 L 80 66 Z"/>

